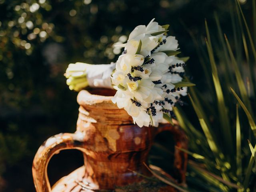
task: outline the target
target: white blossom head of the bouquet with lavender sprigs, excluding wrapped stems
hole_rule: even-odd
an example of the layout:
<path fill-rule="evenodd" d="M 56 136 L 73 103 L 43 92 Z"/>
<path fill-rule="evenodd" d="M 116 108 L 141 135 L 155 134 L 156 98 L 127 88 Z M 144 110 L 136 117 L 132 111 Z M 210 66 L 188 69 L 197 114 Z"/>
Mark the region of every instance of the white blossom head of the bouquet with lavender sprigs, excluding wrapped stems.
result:
<path fill-rule="evenodd" d="M 177 50 L 178 41 L 164 34 L 152 36 L 164 30 L 154 19 L 148 26 L 137 26 L 124 44 L 126 52 L 118 58 L 112 75 L 117 89 L 112 101 L 140 127 L 158 126 L 164 122 L 164 114 L 172 117 L 174 104 L 187 94 L 187 87 L 175 87 L 182 81 L 184 62 L 164 52 Z"/>

